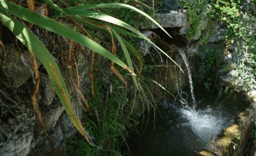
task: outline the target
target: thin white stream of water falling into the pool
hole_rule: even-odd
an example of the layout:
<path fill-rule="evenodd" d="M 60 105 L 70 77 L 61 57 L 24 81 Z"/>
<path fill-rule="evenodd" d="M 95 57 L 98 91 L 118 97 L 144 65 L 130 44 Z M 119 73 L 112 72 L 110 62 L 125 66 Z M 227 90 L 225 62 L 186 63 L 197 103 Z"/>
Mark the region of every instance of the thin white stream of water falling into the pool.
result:
<path fill-rule="evenodd" d="M 182 58 L 182 60 L 184 61 L 184 64 L 186 66 L 186 71 L 188 72 L 188 78 L 189 78 L 189 86 L 190 86 L 190 92 L 191 92 L 191 97 L 192 97 L 192 108 L 191 110 L 193 112 L 196 111 L 196 99 L 195 99 L 195 95 L 194 95 L 194 89 L 193 89 L 193 81 L 192 81 L 192 76 L 191 76 L 191 71 L 189 68 L 189 64 L 188 64 L 188 59 L 186 57 L 186 54 L 184 52 L 184 50 L 182 50 L 181 48 L 178 49 L 180 57 Z M 178 90 L 179 91 L 179 90 Z M 181 93 L 182 94 L 182 93 Z"/>

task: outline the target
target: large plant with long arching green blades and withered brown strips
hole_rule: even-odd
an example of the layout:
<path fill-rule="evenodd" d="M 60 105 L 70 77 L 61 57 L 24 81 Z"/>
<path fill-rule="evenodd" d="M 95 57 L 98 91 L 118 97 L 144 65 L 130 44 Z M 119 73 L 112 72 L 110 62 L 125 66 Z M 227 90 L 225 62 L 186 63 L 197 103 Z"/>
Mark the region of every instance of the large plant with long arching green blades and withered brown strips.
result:
<path fill-rule="evenodd" d="M 68 1 L 60 1 L 58 4 L 54 3 L 51 0 L 44 0 L 44 3 L 47 6 L 50 6 L 50 10 L 43 10 L 43 12 L 47 11 L 47 14 L 38 13 L 35 11 L 35 1 L 27 1 L 28 2 L 28 9 L 24 8 L 24 2 L 19 1 L 17 4 L 12 3 L 10 1 L 1 0 L 0 1 L 0 19 L 10 31 L 16 36 L 17 39 L 21 43 L 23 43 L 31 52 L 31 57 L 35 55 L 35 57 L 40 60 L 42 65 L 44 66 L 45 70 L 47 71 L 49 78 L 51 79 L 52 85 L 56 91 L 57 96 L 59 97 L 61 104 L 65 108 L 65 111 L 72 120 L 73 124 L 76 126 L 77 131 L 79 131 L 86 141 L 93 146 L 96 146 L 92 138 L 88 135 L 86 129 L 84 129 L 84 125 L 81 124 L 81 120 L 77 118 L 77 115 L 74 111 L 74 108 L 70 101 L 70 96 L 68 94 L 67 86 L 63 80 L 63 76 L 60 72 L 58 64 L 54 60 L 54 56 L 51 55 L 51 52 L 47 50 L 45 45 L 38 39 L 38 37 L 31 31 L 31 27 L 33 25 L 37 25 L 42 27 L 43 29 L 63 36 L 65 38 L 70 39 L 70 45 L 74 43 L 78 43 L 83 45 L 91 50 L 92 52 L 92 66 L 90 66 L 90 73 L 89 76 L 91 78 L 91 85 L 92 85 L 92 94 L 96 94 L 94 89 L 94 78 L 93 76 L 93 62 L 95 52 L 102 55 L 104 58 L 109 59 L 111 61 L 111 71 L 121 80 L 125 87 L 128 87 L 128 83 L 124 79 L 124 76 L 120 74 L 118 69 L 115 67 L 115 64 L 125 69 L 128 74 L 132 78 L 132 83 L 134 84 L 135 90 L 143 90 L 140 85 L 140 76 L 143 67 L 143 60 L 136 48 L 129 43 L 129 41 L 125 40 L 123 36 L 130 36 L 134 38 L 140 38 L 147 40 L 152 46 L 155 46 L 160 52 L 162 52 L 166 57 L 173 59 L 167 55 L 161 48 L 155 45 L 150 39 L 144 36 L 140 31 L 132 27 L 131 25 L 119 20 L 118 18 L 112 17 L 110 15 L 106 15 L 105 13 L 100 12 L 99 10 L 115 8 L 118 9 L 127 9 L 133 12 L 138 13 L 144 18 L 148 18 L 154 22 L 154 24 L 158 25 L 168 36 L 168 32 L 166 32 L 161 25 L 159 25 L 152 17 L 148 16 L 141 10 L 134 8 L 133 6 L 129 6 L 127 4 L 122 3 L 100 3 L 100 4 L 86 4 L 84 1 L 77 1 L 76 3 L 68 3 Z M 73 1 L 74 2 L 74 1 Z M 65 21 L 65 22 L 61 22 Z M 29 22 L 29 26 L 26 24 Z M 97 32 L 101 32 L 104 38 L 109 38 L 111 44 L 111 50 L 107 50 L 103 46 L 99 45 L 93 38 L 102 38 L 99 36 Z M 116 46 L 120 45 L 122 52 L 124 53 L 125 60 L 121 60 L 120 58 L 116 57 Z M 1 45 L 2 51 L 4 52 L 4 45 Z M 72 47 L 70 48 L 72 49 Z M 134 67 L 131 59 L 131 53 L 138 59 L 139 65 L 138 67 Z M 6 53 L 5 53 L 6 54 Z M 3 54 L 4 55 L 4 54 Z M 33 59 L 35 60 L 35 59 Z M 36 62 L 36 61 L 34 61 Z M 174 61 L 173 61 L 174 62 Z M 175 63 L 175 62 L 174 62 Z M 175 63 L 176 64 L 176 63 Z M 178 66 L 178 65 L 177 65 Z M 38 72 L 36 72 L 36 64 L 35 68 L 35 77 L 36 80 L 40 79 Z M 39 82 L 36 83 L 39 86 Z M 76 85 L 75 85 L 76 86 Z M 81 90 L 77 89 L 76 91 L 83 99 L 84 103 L 86 104 L 87 111 L 92 112 L 93 104 L 88 104 L 85 97 L 81 93 Z M 96 90 L 96 89 L 95 89 Z M 38 87 L 35 87 L 35 94 L 38 91 Z M 97 90 L 100 92 L 101 90 Z M 35 95 L 33 94 L 33 95 Z M 93 96 L 92 95 L 92 96 Z M 33 106 L 36 111 L 36 115 L 38 120 L 43 124 L 44 121 L 40 117 L 40 110 L 38 104 L 34 103 L 36 101 L 36 97 L 33 96 Z M 96 98 L 95 98 L 96 99 Z M 113 108 L 114 109 L 114 108 Z M 104 112 L 109 113 L 111 111 L 104 110 Z M 97 112 L 94 112 L 97 117 Z M 107 117 L 107 116 L 106 116 Z M 115 120 L 111 120 L 115 121 Z M 89 120 L 90 122 L 90 120 Z M 93 122 L 95 123 L 95 122 Z M 99 123 L 98 123 L 99 124 Z M 116 122 L 109 123 L 109 127 L 116 127 Z M 93 125 L 93 124 L 92 124 Z M 87 127 L 87 126 L 85 126 Z M 93 127 L 93 126 L 92 126 Z M 91 127 L 91 128 L 92 128 Z M 95 127 L 97 127 L 95 125 Z M 120 129 L 124 129 L 122 124 L 117 124 L 117 127 Z M 87 127 L 90 129 L 90 126 Z M 104 131 L 106 130 L 105 127 L 102 127 Z M 95 131 L 97 129 L 93 129 Z M 100 129 L 98 129 L 100 131 Z M 102 132 L 104 132 L 102 131 Z M 110 131 L 110 130 L 109 130 Z M 108 134 L 108 133 L 106 133 Z M 100 138 L 98 138 L 100 139 Z M 97 141 L 99 143 L 99 141 Z M 99 147 L 99 146 L 98 146 Z"/>

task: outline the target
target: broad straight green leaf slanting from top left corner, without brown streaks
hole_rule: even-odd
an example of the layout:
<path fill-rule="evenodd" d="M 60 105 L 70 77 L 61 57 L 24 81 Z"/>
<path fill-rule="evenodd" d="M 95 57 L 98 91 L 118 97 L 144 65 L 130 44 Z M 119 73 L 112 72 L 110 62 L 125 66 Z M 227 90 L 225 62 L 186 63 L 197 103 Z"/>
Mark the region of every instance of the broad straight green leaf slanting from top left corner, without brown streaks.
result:
<path fill-rule="evenodd" d="M 100 55 L 106 57 L 109 60 L 112 60 L 119 66 L 127 69 L 127 71 L 134 74 L 131 69 L 129 69 L 129 67 L 124 64 L 124 62 L 122 62 L 122 60 L 118 59 L 115 55 L 100 46 L 95 41 L 92 41 L 92 39 L 87 38 L 86 36 L 77 31 L 74 31 L 70 27 L 67 27 L 66 25 L 60 24 L 59 22 L 56 22 L 51 18 L 44 17 L 8 1 L 1 0 L 1 7 L 3 7 L 4 10 L 8 11 L 9 13 L 12 13 L 19 18 L 22 18 L 23 20 L 36 24 L 49 31 L 55 32 L 56 34 L 60 34 L 61 36 L 65 36 L 66 38 L 72 39 L 73 41 L 76 41 L 77 43 L 80 43 L 81 45 L 90 48 L 91 50 L 99 53 Z"/>

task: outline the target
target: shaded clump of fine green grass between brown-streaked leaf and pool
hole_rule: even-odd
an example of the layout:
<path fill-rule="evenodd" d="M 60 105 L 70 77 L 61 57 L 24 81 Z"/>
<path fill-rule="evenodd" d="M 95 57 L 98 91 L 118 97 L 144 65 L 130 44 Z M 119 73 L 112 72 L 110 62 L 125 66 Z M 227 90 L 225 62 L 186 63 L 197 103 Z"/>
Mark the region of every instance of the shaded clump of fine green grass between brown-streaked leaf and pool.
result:
<path fill-rule="evenodd" d="M 144 92 L 132 87 L 125 90 L 113 73 L 106 74 L 110 71 L 102 64 L 96 64 L 95 71 L 95 98 L 90 101 L 93 113 L 84 113 L 83 120 L 97 146 L 90 146 L 83 139 L 74 137 L 68 141 L 67 155 L 123 155 L 120 148 L 126 146 L 125 139 L 134 125 L 134 113 L 143 113 L 134 110 L 138 104 L 143 107 L 142 103 L 135 101 L 147 99 Z M 125 76 L 125 80 L 132 81 L 130 76 Z M 147 90 L 143 83 L 141 87 Z M 148 104 L 145 103 L 147 107 Z"/>

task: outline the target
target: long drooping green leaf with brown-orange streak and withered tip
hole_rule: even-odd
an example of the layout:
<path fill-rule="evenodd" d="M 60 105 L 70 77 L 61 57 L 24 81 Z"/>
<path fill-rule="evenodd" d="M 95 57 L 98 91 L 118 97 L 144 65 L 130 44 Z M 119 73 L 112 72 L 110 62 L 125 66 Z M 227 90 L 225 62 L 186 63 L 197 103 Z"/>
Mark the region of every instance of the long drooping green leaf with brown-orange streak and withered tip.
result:
<path fill-rule="evenodd" d="M 1 4 L 4 4 L 4 1 L 1 1 Z M 0 20 L 3 22 L 6 27 L 13 32 L 13 34 L 25 45 L 28 47 L 31 52 L 33 52 L 43 64 L 49 78 L 51 79 L 52 85 L 56 91 L 56 94 L 60 98 L 65 111 L 67 112 L 68 117 L 72 120 L 73 124 L 76 126 L 77 130 L 86 138 L 86 140 L 93 145 L 88 137 L 83 125 L 76 116 L 70 97 L 68 96 L 68 90 L 65 85 L 65 82 L 61 76 L 60 69 L 58 68 L 54 58 L 51 53 L 45 48 L 44 44 L 31 32 L 27 27 L 25 27 L 19 20 L 16 20 L 10 16 L 6 11 L 0 8 Z"/>

